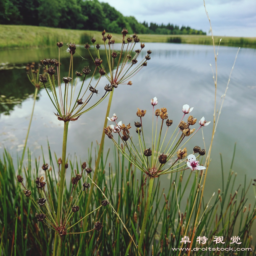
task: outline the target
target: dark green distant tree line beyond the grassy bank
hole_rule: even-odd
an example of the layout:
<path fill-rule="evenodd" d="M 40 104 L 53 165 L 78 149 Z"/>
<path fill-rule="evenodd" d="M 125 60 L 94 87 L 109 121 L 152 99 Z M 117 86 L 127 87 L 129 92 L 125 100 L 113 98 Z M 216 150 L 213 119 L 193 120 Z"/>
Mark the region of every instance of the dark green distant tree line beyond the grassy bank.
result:
<path fill-rule="evenodd" d="M 1 0 L 0 24 L 97 31 L 105 29 L 112 33 L 126 28 L 138 34 L 206 34 L 170 23 L 139 23 L 133 16 L 125 17 L 108 3 L 98 0 Z"/>

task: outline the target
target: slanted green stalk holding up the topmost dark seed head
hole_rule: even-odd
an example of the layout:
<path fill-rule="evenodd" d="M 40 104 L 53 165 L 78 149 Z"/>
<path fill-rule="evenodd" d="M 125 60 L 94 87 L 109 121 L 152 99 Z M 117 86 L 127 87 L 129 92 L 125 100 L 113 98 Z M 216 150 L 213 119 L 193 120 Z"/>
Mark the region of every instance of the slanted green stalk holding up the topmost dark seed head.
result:
<path fill-rule="evenodd" d="M 108 121 L 107 117 L 109 116 L 109 112 L 110 112 L 110 106 L 111 106 L 111 102 L 112 102 L 113 92 L 114 92 L 114 90 L 110 92 L 109 104 L 107 106 L 107 112 L 106 112 L 104 127 L 107 126 L 107 121 Z M 104 139 L 105 139 L 105 133 L 103 131 L 101 141 L 100 141 L 100 148 L 99 148 L 99 152 L 98 152 L 97 162 L 96 162 L 96 166 L 95 166 L 95 170 L 94 170 L 94 175 L 93 175 L 93 178 L 92 178 L 93 181 L 96 180 L 97 173 L 98 173 L 98 170 L 99 170 L 100 157 L 101 157 L 103 147 L 104 147 Z M 86 205 L 86 210 L 85 210 L 84 215 L 87 215 L 89 213 L 93 189 L 94 189 L 94 183 L 91 184 L 91 189 L 90 189 L 89 196 L 88 196 L 88 199 L 87 199 L 87 205 Z M 85 220 L 84 220 L 83 231 L 86 231 L 87 227 L 88 227 L 88 217 L 86 217 Z M 83 234 L 81 235 L 81 243 L 83 243 Z M 81 246 L 79 246 L 79 250 L 78 250 L 77 255 L 80 255 L 80 248 L 81 248 Z"/>

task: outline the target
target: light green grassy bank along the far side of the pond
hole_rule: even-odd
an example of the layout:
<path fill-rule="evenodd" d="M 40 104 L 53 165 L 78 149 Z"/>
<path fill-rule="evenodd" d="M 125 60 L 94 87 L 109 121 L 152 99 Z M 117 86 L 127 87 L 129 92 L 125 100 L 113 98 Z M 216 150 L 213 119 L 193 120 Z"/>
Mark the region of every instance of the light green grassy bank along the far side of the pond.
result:
<path fill-rule="evenodd" d="M 162 42 L 178 44 L 212 44 L 211 36 L 203 35 L 138 35 L 141 42 Z M 37 26 L 0 25 L 1 44 L 0 49 L 5 48 L 29 48 L 49 47 L 58 41 L 76 42 L 85 44 L 95 37 L 98 43 L 102 43 L 101 32 L 89 30 L 72 30 L 60 28 L 46 28 Z M 218 43 L 222 38 L 221 45 L 256 48 L 256 37 L 221 37 L 215 36 Z M 112 39 L 121 42 L 120 34 L 112 34 Z"/>

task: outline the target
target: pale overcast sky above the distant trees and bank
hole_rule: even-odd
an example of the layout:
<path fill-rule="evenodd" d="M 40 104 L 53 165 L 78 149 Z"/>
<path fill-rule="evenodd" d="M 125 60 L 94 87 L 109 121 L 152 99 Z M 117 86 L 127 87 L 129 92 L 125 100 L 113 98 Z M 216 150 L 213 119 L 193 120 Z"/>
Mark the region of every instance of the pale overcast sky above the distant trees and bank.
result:
<path fill-rule="evenodd" d="M 100 0 L 139 22 L 177 24 L 209 32 L 203 0 Z M 256 0 L 206 0 L 215 36 L 256 37 Z"/>

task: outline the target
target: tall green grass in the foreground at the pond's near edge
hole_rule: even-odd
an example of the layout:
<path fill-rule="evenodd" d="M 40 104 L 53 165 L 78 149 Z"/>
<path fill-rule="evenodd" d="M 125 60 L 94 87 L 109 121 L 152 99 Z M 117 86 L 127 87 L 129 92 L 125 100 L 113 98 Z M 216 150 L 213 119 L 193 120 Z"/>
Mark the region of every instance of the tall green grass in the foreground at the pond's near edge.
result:
<path fill-rule="evenodd" d="M 98 152 L 98 148 L 95 150 L 95 156 L 92 147 L 88 149 L 87 166 L 94 165 L 93 159 L 97 158 L 96 152 Z M 148 182 L 144 185 L 145 177 L 142 172 L 136 172 L 136 169 L 117 151 L 114 151 L 113 164 L 109 164 L 109 152 L 110 150 L 107 151 L 105 157 L 101 157 L 96 183 L 104 191 L 133 240 L 138 244 Z M 46 152 L 42 152 L 42 159 L 35 159 L 34 161 L 31 160 L 31 154 L 28 151 L 28 163 L 23 170 L 24 183 L 32 191 L 34 198 L 41 196 L 34 180 L 41 175 L 39 166 L 45 163 L 45 159 L 49 159 L 48 164 L 52 167 L 47 170 L 47 193 L 50 196 L 50 191 L 53 191 L 53 204 L 57 209 L 58 164 L 57 156 L 52 155 L 50 149 L 47 156 Z M 241 186 L 238 188 L 235 186 L 236 175 L 232 170 L 233 160 L 227 180 L 224 178 L 224 172 L 227 172 L 227 170 L 221 169 L 221 190 L 218 191 L 216 188 L 215 195 L 210 203 L 209 198 L 203 198 L 200 213 L 201 221 L 198 224 L 196 237 L 199 235 L 206 236 L 208 238 L 207 244 L 202 246 L 194 240 L 192 248 L 206 246 L 236 248 L 236 246 L 239 246 L 240 248 L 252 248 L 252 251 L 237 251 L 236 255 L 254 255 L 256 252 L 255 240 L 252 240 L 251 228 L 256 218 L 256 205 L 255 202 L 251 202 L 249 206 L 249 202 L 247 202 L 246 193 L 248 189 L 252 188 L 250 182 L 246 185 L 246 178 Z M 75 173 L 81 173 L 81 164 L 77 157 L 69 161 L 68 172 L 70 177 L 75 176 Z M 41 222 L 37 222 L 36 210 L 29 198 L 24 196 L 21 184 L 17 184 L 15 170 L 13 160 L 8 151 L 5 150 L 0 160 L 0 255 L 49 256 L 52 254 L 54 231 Z M 67 174 L 67 176 L 69 175 Z M 200 190 L 198 176 L 194 172 L 189 175 L 184 172 L 173 173 L 170 177 L 169 188 L 163 188 L 159 179 L 156 178 L 152 193 L 154 204 L 149 210 L 149 224 L 146 227 L 144 247 L 142 248 L 144 256 L 152 255 L 152 245 L 154 255 L 179 255 L 179 251 L 173 251 L 172 248 L 180 246 L 184 225 L 186 225 L 191 214 L 196 191 Z M 84 178 L 85 174 L 83 174 L 82 180 Z M 90 183 L 89 180 L 87 181 Z M 67 178 L 64 191 L 64 198 L 67 198 L 67 200 L 72 188 L 69 184 L 69 178 Z M 79 182 L 77 191 L 81 188 L 82 182 Z M 80 217 L 84 216 L 88 190 L 85 190 L 78 204 L 80 210 L 74 214 L 72 223 L 77 222 Z M 101 192 L 95 189 L 90 202 L 91 211 L 99 207 L 103 199 Z M 67 207 L 67 200 L 66 205 L 63 206 L 64 209 Z M 63 236 L 62 254 L 76 255 L 80 247 L 81 255 L 86 256 L 96 255 L 97 252 L 97 255 L 102 256 L 136 255 L 136 248 L 131 238 L 123 228 L 117 215 L 113 213 L 110 205 L 100 207 L 99 210 L 89 216 L 88 230 L 93 229 L 95 222 L 98 220 L 103 223 L 104 227 L 100 232 L 93 230 L 86 233 L 83 243 L 80 243 L 81 234 Z M 191 227 L 193 225 L 192 222 Z M 69 232 L 82 231 L 83 227 L 80 224 L 69 230 Z M 213 241 L 214 236 L 223 236 L 225 244 L 216 245 Z M 229 244 L 232 236 L 240 237 L 241 244 Z M 216 254 L 214 254 L 214 251 L 201 251 L 196 255 L 213 256 Z"/>

